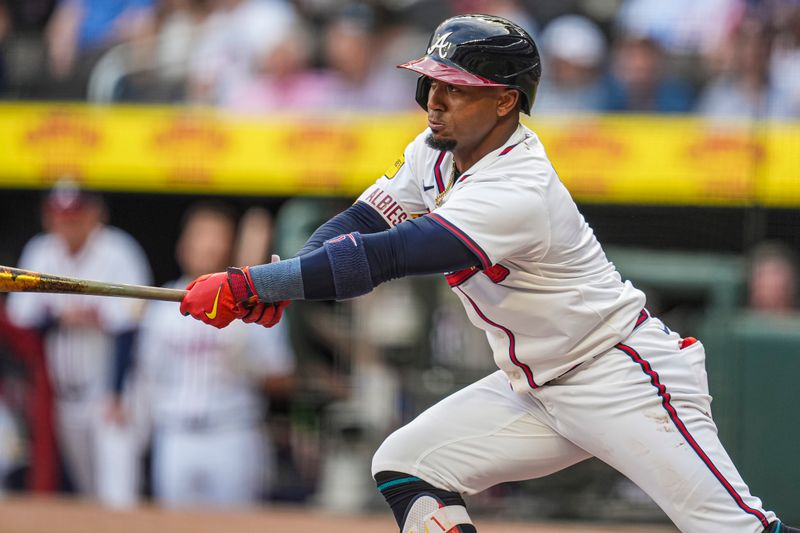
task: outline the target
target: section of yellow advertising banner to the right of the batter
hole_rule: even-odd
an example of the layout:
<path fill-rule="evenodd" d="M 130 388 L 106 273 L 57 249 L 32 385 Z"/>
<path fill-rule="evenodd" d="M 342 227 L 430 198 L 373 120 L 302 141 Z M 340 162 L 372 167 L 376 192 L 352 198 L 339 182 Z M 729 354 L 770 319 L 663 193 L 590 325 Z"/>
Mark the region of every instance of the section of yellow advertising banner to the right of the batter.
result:
<path fill-rule="evenodd" d="M 800 206 L 798 123 L 615 116 L 538 126 L 561 179 L 583 201 Z"/>

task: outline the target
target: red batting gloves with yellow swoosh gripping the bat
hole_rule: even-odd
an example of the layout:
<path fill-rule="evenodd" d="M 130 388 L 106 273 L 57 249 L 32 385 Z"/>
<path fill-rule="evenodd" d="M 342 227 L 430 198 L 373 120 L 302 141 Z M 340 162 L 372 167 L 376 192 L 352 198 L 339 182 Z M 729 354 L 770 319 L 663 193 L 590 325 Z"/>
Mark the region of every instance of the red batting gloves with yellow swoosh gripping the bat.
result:
<path fill-rule="evenodd" d="M 259 302 L 247 267 L 205 274 L 192 281 L 186 290 L 181 313 L 216 328 L 224 328 L 237 318 L 272 327 L 289 305 L 289 302 Z"/>

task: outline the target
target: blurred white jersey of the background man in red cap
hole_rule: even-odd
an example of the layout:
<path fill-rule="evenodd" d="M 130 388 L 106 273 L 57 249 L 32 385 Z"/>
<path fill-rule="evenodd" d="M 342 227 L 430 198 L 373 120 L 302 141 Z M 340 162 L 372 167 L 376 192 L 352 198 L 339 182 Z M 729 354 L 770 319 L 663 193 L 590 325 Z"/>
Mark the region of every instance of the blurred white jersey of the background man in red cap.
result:
<path fill-rule="evenodd" d="M 124 231 L 100 226 L 83 248 L 71 255 L 55 235 L 41 234 L 25 246 L 19 266 L 38 272 L 98 281 L 150 283 L 150 268 L 139 244 Z M 37 327 L 46 314 L 54 317 L 77 309 L 94 309 L 100 328 L 54 327 L 45 348 L 56 398 L 80 402 L 104 397 L 108 392 L 114 335 L 138 323 L 141 303 L 129 298 L 85 294 L 14 293 L 9 296 L 9 316 L 23 327 Z"/>

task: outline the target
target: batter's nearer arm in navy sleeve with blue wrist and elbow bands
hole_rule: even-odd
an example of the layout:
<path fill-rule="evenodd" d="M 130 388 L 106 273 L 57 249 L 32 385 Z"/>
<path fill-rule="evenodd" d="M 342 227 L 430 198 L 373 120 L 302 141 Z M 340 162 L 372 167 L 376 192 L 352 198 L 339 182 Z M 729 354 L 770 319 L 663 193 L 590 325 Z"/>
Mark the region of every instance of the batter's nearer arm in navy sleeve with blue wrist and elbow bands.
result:
<path fill-rule="evenodd" d="M 371 235 L 341 235 L 302 257 L 250 268 L 262 301 L 343 300 L 409 275 L 478 266 L 450 232 L 417 219 Z"/>

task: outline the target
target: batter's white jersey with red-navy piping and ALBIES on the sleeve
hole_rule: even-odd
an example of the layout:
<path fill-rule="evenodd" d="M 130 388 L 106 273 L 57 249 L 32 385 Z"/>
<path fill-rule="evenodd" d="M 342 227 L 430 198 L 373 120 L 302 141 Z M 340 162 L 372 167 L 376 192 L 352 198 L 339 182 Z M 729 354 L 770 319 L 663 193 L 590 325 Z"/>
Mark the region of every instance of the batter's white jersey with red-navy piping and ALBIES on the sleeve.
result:
<path fill-rule="evenodd" d="M 359 200 L 390 225 L 434 217 L 480 259 L 447 279 L 514 390 L 537 389 L 624 339 L 644 294 L 608 261 L 538 137 L 520 125 L 449 186 L 453 155 L 426 145 L 429 133 Z"/>

